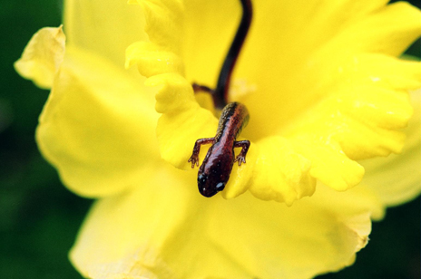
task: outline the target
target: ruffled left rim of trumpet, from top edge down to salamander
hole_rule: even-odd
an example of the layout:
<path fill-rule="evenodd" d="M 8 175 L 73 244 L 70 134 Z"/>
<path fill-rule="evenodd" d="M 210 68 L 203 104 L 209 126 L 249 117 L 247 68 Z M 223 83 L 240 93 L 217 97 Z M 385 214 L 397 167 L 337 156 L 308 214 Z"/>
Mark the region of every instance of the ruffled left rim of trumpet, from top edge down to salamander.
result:
<path fill-rule="evenodd" d="M 177 54 L 181 32 L 182 5 L 178 1 L 141 1 L 146 29 L 152 43 L 133 43 L 126 50 L 126 66 L 138 65 L 150 77 L 148 86 L 162 86 L 156 95 L 156 111 L 163 113 L 157 126 L 162 158 L 177 168 L 191 168 L 188 159 L 196 139 L 210 137 L 217 120 L 199 107 L 191 83 L 182 76 L 183 64 Z M 175 28 L 167 30 L 168 26 Z M 167 34 L 171 31 L 171 35 Z M 175 33 L 174 33 L 175 32 Z M 167 51 L 171 50 L 171 51 Z M 182 131 L 182 132 L 180 132 Z"/>

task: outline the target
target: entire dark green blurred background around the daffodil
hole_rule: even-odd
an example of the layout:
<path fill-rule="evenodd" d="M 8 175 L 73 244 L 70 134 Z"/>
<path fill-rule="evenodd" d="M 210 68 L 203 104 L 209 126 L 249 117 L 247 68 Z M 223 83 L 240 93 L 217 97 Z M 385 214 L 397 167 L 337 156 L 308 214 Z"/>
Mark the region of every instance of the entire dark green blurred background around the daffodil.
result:
<path fill-rule="evenodd" d="M 81 278 L 67 252 L 92 200 L 67 191 L 40 156 L 34 130 L 48 91 L 13 69 L 38 29 L 61 24 L 62 10 L 57 0 L 0 0 L 1 278 Z M 408 53 L 419 57 L 420 45 L 418 40 Z M 355 265 L 318 278 L 420 278 L 420 212 L 419 197 L 388 209 Z"/>

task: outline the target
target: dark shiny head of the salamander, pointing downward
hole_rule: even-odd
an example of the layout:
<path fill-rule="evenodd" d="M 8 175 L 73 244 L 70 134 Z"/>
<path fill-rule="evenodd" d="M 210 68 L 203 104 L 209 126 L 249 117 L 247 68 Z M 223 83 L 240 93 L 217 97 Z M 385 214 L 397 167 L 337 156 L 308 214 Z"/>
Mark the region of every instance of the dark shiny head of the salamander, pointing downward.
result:
<path fill-rule="evenodd" d="M 212 197 L 225 188 L 234 162 L 232 158 L 230 155 L 223 156 L 201 165 L 198 173 L 198 187 L 201 195 Z"/>

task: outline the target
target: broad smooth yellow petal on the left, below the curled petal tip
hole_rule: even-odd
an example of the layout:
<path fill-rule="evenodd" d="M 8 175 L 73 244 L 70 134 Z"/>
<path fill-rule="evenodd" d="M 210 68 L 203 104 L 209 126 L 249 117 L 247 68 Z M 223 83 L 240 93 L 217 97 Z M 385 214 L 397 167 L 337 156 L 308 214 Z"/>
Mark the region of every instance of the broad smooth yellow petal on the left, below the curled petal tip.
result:
<path fill-rule="evenodd" d="M 152 98 L 122 67 L 68 48 L 36 130 L 64 185 L 102 197 L 142 181 L 159 159 Z"/>

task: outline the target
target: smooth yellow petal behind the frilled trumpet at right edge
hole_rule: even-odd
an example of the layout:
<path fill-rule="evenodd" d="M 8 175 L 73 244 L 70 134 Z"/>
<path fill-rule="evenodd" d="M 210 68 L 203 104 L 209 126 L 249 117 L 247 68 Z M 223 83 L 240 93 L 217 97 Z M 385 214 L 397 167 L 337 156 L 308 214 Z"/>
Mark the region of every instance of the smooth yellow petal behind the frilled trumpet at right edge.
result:
<path fill-rule="evenodd" d="M 362 161 L 367 169 L 363 183 L 387 206 L 397 206 L 421 192 L 421 91 L 411 94 L 414 115 L 406 128 L 401 154 Z"/>

